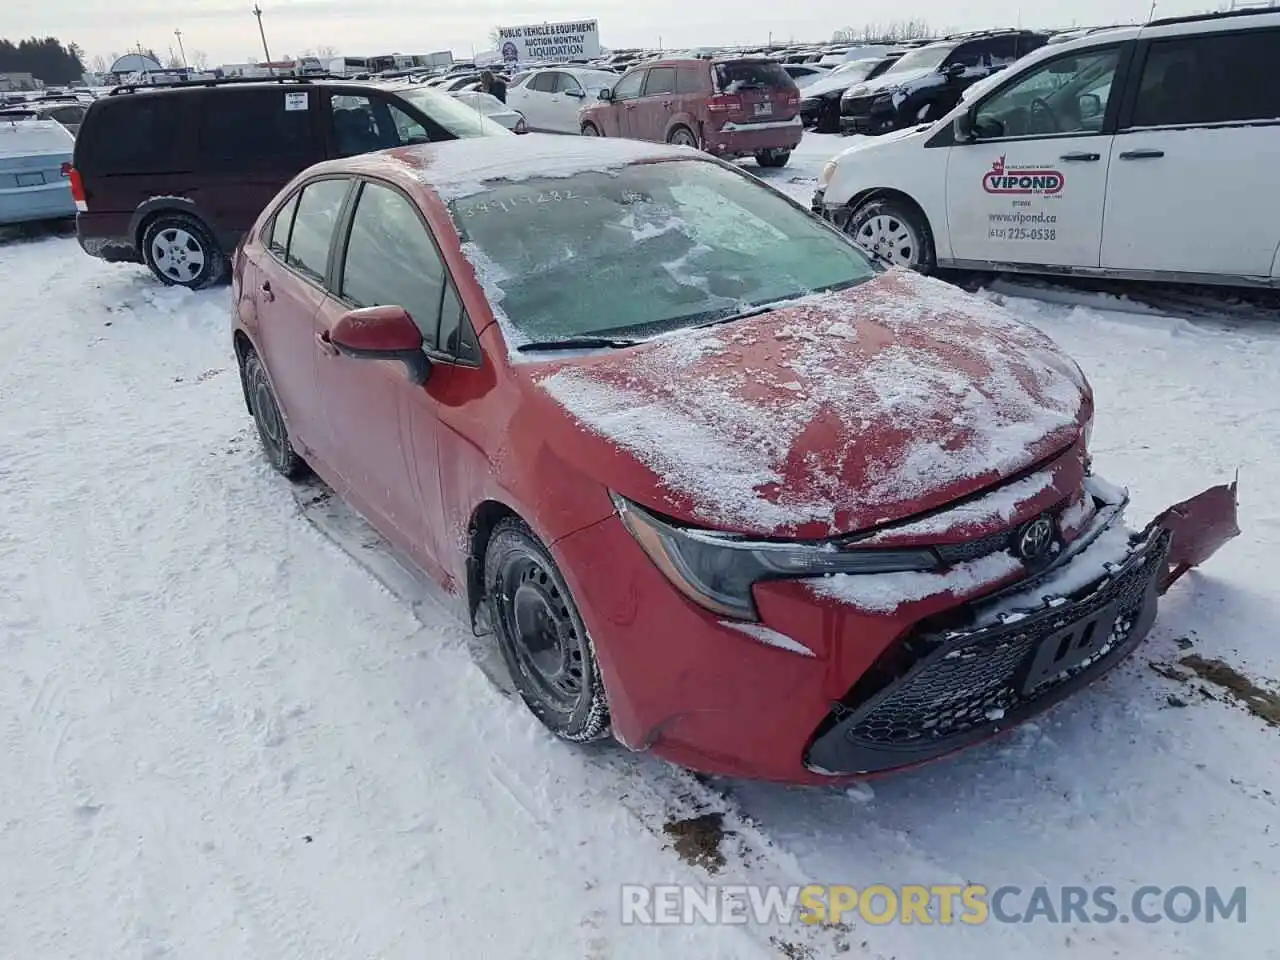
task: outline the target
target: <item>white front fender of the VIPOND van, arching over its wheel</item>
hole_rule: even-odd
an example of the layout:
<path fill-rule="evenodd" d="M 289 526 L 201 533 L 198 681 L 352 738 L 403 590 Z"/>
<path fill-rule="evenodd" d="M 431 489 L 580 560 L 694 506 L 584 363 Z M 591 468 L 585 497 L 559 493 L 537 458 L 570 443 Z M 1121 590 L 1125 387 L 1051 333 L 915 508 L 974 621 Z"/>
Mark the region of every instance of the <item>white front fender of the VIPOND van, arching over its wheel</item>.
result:
<path fill-rule="evenodd" d="M 869 137 L 833 157 L 836 170 L 823 202 L 828 209 L 852 209 L 877 192 L 911 200 L 929 221 L 937 256 L 950 257 L 947 234 L 947 147 L 927 147 L 937 127 L 913 128 Z"/>

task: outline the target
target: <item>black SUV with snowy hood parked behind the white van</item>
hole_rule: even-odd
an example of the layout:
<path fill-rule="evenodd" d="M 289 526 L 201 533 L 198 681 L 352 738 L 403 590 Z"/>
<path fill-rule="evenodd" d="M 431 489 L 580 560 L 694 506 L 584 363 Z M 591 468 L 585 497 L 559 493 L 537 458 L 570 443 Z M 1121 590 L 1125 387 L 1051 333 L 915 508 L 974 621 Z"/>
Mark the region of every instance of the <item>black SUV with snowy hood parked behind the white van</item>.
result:
<path fill-rule="evenodd" d="M 877 134 L 936 120 L 968 87 L 1044 46 L 1048 37 L 1025 29 L 983 31 L 916 47 L 876 79 L 845 91 L 841 131 Z"/>

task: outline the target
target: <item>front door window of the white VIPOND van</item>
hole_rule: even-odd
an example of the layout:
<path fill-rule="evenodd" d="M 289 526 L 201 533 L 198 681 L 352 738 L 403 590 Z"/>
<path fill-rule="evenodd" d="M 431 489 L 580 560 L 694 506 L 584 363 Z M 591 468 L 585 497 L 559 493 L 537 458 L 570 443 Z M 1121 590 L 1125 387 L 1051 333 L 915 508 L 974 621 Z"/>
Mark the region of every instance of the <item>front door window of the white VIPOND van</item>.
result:
<path fill-rule="evenodd" d="M 1120 50 L 1060 56 L 988 97 L 974 113 L 982 140 L 1102 132 Z"/>

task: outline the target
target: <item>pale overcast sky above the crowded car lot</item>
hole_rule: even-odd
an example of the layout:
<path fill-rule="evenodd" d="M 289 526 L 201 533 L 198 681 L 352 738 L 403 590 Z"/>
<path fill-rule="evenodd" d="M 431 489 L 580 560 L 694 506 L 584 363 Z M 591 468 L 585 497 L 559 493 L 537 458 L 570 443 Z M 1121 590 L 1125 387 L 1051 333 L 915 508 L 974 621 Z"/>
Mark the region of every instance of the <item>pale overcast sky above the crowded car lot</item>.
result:
<path fill-rule="evenodd" d="M 920 18 L 932 27 L 1070 26 L 1147 18 L 1149 0 L 259 0 L 271 56 L 320 46 L 339 54 L 421 54 L 488 49 L 495 26 L 598 19 L 605 46 L 664 47 L 696 44 L 827 40 L 845 26 Z M 1212 6 L 1212 0 L 1158 0 L 1162 15 Z M 96 55 L 127 52 L 141 42 L 166 56 L 180 27 L 187 55 L 210 61 L 259 58 L 252 0 L 40 0 L 6 3 L 0 31 L 10 38 L 56 36 Z"/>

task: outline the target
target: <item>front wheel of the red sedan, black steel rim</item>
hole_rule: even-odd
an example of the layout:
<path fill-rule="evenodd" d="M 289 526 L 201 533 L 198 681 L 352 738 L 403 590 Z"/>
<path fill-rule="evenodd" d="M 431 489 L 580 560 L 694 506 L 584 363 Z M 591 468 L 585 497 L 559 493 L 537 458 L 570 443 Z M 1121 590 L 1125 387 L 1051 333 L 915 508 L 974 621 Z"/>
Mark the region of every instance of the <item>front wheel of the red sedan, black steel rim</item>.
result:
<path fill-rule="evenodd" d="M 522 521 L 494 527 L 484 586 L 503 662 L 532 714 L 562 740 L 608 735 L 595 648 L 556 561 Z"/>

